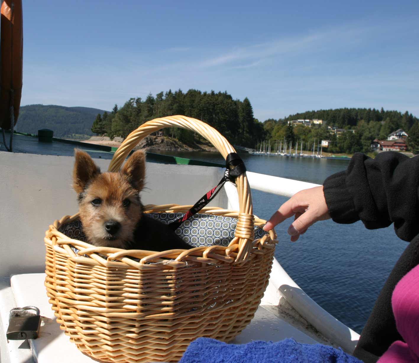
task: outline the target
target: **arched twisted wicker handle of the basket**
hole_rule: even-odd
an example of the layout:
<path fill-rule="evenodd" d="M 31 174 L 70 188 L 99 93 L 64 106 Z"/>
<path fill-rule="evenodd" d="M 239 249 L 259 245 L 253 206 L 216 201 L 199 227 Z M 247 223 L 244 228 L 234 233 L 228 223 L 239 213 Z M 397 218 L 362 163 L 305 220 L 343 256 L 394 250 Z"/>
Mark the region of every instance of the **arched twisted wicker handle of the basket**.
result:
<path fill-rule="evenodd" d="M 142 124 L 138 129 L 134 130 L 122 142 L 121 146 L 116 150 L 114 157 L 109 164 L 108 171 L 116 172 L 122 166 L 134 147 L 146 136 L 165 127 L 179 127 L 181 129 L 191 130 L 201 135 L 220 152 L 224 160 L 230 152 L 235 152 L 231 144 L 216 129 L 205 124 L 196 118 L 186 116 L 168 116 L 155 118 Z M 238 246 L 238 253 L 235 259 L 236 263 L 244 262 L 252 248 L 254 239 L 254 216 L 252 206 L 252 196 L 250 186 L 247 180 L 246 172 L 238 176 L 235 180 L 239 199 L 239 215 L 235 230 L 235 239 L 230 245 Z"/>

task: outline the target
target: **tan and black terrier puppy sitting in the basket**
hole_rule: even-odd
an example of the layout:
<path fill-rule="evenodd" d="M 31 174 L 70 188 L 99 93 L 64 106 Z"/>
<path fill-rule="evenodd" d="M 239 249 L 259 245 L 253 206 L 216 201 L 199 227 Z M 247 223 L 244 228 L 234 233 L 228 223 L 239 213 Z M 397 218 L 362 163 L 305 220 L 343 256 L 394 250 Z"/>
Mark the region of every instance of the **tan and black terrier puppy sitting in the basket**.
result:
<path fill-rule="evenodd" d="M 88 242 L 98 247 L 166 251 L 190 249 L 166 224 L 143 213 L 145 153 L 132 154 L 119 172 L 103 172 L 75 149 L 73 188 Z"/>

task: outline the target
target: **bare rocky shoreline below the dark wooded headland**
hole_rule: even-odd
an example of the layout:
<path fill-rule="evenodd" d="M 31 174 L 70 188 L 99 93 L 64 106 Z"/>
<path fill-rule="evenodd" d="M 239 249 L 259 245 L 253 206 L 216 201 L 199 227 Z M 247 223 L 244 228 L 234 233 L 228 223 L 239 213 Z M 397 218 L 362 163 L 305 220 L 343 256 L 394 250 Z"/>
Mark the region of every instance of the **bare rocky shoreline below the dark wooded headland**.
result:
<path fill-rule="evenodd" d="M 88 140 L 84 140 L 88 144 L 97 144 L 105 146 L 119 147 L 122 144 L 122 137 L 115 137 L 111 140 L 107 136 L 92 136 Z M 195 143 L 186 145 L 168 136 L 146 136 L 134 149 L 147 149 L 148 151 L 153 150 L 166 150 L 166 151 L 209 151 L 216 152 L 217 149 L 213 147 L 209 142 L 206 143 Z"/>

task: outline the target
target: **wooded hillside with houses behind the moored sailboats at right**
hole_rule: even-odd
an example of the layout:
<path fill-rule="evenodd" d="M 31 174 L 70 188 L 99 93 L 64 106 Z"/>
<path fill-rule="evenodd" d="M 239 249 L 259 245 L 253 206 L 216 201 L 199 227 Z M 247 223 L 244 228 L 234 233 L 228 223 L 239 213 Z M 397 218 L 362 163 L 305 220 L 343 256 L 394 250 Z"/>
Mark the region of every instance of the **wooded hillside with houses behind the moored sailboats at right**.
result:
<path fill-rule="evenodd" d="M 288 125 L 289 120 L 321 119 L 323 124 L 307 127 L 303 125 Z M 328 126 L 338 127 L 346 131 L 339 132 L 339 136 Z M 406 111 L 380 111 L 375 108 L 337 108 L 334 110 L 306 111 L 295 113 L 285 119 L 271 118 L 264 121 L 264 129 L 268 133 L 267 139 L 271 144 L 283 141 L 301 143 L 303 149 L 313 149 L 313 144 L 319 140 L 330 140 L 329 152 L 353 154 L 354 152 L 370 152 L 374 139 L 385 140 L 391 132 L 403 129 L 409 135 L 407 145 L 413 152 L 419 151 L 419 119 Z"/>

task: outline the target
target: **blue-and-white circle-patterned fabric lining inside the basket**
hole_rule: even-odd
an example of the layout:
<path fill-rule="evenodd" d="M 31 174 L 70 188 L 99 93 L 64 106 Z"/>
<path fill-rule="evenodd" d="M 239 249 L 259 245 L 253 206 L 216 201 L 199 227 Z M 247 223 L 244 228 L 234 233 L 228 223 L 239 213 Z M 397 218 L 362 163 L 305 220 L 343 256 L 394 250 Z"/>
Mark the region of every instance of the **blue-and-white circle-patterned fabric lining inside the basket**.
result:
<path fill-rule="evenodd" d="M 183 217 L 183 213 L 147 213 L 147 217 L 158 219 L 164 224 Z M 195 214 L 184 221 L 175 233 L 192 247 L 213 245 L 228 246 L 234 238 L 237 219 L 233 217 L 215 216 L 213 214 Z M 59 227 L 59 232 L 72 239 L 86 242 L 80 221 L 73 221 Z M 255 226 L 255 239 L 261 238 L 266 232 Z"/>

